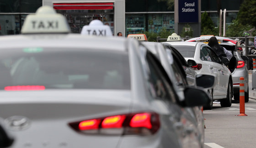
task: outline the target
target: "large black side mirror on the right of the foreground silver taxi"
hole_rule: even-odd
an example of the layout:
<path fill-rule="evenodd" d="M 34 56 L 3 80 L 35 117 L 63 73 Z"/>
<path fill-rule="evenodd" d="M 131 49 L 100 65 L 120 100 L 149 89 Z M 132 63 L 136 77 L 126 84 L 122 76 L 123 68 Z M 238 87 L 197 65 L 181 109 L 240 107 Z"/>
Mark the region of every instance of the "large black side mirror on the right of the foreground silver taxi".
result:
<path fill-rule="evenodd" d="M 210 103 L 210 97 L 203 89 L 187 87 L 184 96 L 183 102 L 186 107 L 204 106 Z"/>

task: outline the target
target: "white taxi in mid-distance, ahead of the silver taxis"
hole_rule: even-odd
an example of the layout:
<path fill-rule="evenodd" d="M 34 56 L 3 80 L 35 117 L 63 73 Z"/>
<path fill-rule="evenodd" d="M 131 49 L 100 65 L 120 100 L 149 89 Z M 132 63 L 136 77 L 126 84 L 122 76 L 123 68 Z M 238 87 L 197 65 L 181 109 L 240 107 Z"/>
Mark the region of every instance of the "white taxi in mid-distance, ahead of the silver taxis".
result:
<path fill-rule="evenodd" d="M 215 100 L 219 100 L 222 107 L 231 106 L 233 97 L 232 72 L 236 66 L 235 62 L 229 62 L 228 58 L 220 60 L 211 47 L 203 42 L 169 40 L 165 43 L 174 46 L 187 61 L 196 61 L 197 65 L 192 66 L 192 68 L 197 74 L 208 73 L 215 76 L 216 85 L 210 90 L 212 100 L 206 108 L 212 109 Z M 236 59 L 232 58 L 232 60 L 235 61 Z"/>

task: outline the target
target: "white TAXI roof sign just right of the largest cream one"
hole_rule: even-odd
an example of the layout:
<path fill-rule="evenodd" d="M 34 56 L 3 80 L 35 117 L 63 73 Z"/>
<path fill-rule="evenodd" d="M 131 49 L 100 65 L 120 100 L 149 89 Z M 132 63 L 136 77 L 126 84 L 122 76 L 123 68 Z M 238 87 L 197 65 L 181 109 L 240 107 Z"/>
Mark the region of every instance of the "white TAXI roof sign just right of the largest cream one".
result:
<path fill-rule="evenodd" d="M 101 20 L 92 20 L 82 28 L 81 35 L 113 36 L 110 26 L 104 25 Z"/>

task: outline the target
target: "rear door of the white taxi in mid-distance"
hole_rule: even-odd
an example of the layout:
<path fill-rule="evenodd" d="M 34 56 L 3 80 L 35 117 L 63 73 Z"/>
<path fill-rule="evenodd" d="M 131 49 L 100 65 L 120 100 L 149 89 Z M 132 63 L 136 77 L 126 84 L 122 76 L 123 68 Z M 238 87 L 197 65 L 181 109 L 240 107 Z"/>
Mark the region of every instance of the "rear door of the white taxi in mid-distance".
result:
<path fill-rule="evenodd" d="M 203 45 L 200 49 L 200 60 L 202 60 L 202 72 L 203 73 L 211 73 L 215 75 L 216 78 L 216 85 L 213 87 L 213 97 L 221 95 L 221 90 L 219 86 L 219 69 L 218 66 L 213 61 L 212 56 L 210 55 L 211 52 L 208 51 L 207 46 Z"/>

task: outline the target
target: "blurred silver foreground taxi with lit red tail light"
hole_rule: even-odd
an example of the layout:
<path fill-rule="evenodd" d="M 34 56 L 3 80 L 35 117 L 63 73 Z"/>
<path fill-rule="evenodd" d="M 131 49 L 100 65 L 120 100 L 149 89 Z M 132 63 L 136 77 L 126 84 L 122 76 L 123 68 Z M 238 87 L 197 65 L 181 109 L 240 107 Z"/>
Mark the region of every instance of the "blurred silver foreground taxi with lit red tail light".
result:
<path fill-rule="evenodd" d="M 0 37 L 0 117 L 12 148 L 190 147 L 182 141 L 195 118 L 183 108 L 208 95 L 187 88 L 184 96 L 197 98 L 181 100 L 145 46 L 91 23 L 90 35 L 71 34 L 64 16 L 43 6 L 21 35 Z"/>

